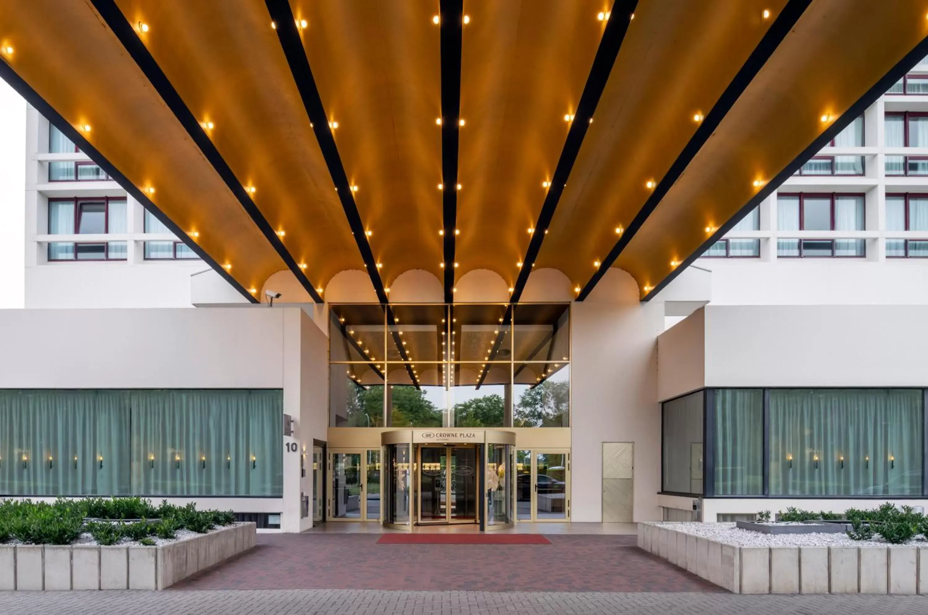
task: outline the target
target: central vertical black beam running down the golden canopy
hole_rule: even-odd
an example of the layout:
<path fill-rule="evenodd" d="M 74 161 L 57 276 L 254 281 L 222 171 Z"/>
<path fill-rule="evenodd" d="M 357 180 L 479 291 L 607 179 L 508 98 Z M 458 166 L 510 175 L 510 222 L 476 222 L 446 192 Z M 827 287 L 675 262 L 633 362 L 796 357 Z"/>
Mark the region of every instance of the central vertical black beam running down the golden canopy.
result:
<path fill-rule="evenodd" d="M 442 46 L 442 257 L 445 263 L 445 303 L 454 301 L 455 238 L 458 227 L 458 135 L 461 110 L 461 39 L 463 0 L 441 0 Z"/>

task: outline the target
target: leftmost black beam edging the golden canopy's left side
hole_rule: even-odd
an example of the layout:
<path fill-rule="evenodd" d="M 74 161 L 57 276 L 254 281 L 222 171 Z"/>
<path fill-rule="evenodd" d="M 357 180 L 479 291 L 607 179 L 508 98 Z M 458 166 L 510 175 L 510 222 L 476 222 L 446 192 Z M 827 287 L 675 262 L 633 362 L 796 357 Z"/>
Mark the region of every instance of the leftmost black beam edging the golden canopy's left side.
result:
<path fill-rule="evenodd" d="M 174 236 L 179 238 L 190 250 L 193 250 L 197 253 L 197 256 L 203 260 L 203 263 L 210 265 L 213 270 L 222 276 L 223 279 L 228 282 L 229 286 L 235 288 L 242 297 L 251 301 L 251 303 L 260 303 L 256 297 L 254 297 L 247 288 L 243 287 L 238 283 L 231 274 L 229 274 L 224 267 L 219 263 L 216 263 L 213 260 L 213 257 L 210 256 L 206 250 L 200 248 L 200 245 L 196 241 L 191 239 L 187 235 L 187 231 L 182 229 L 177 224 L 174 224 L 174 221 L 171 220 L 163 211 L 161 211 L 157 205 L 155 205 L 151 199 L 148 199 L 148 196 L 142 191 L 141 188 L 135 186 L 135 184 L 129 181 L 129 178 L 126 177 L 122 172 L 113 165 L 110 160 L 107 160 L 100 152 L 97 150 L 97 147 L 94 147 L 84 135 L 81 134 L 76 128 L 74 128 L 70 122 L 65 120 L 58 111 L 52 108 L 49 105 L 45 98 L 39 96 L 39 93 L 32 89 L 32 87 L 26 83 L 11 66 L 6 64 L 6 62 L 0 62 L 0 78 L 2 78 L 6 83 L 9 83 L 10 87 L 17 91 L 19 96 L 22 96 L 26 101 L 32 105 L 35 109 L 41 113 L 46 120 L 54 124 L 59 131 L 61 131 L 65 136 L 71 139 L 77 147 L 81 149 L 89 158 L 93 160 L 98 167 L 103 169 L 110 175 L 110 178 L 116 181 L 117 184 L 122 187 L 127 193 L 131 194 L 133 199 L 141 203 L 142 207 L 150 211 L 152 215 L 158 218 L 161 221 L 161 224 L 167 226 L 168 230 L 174 233 Z"/>

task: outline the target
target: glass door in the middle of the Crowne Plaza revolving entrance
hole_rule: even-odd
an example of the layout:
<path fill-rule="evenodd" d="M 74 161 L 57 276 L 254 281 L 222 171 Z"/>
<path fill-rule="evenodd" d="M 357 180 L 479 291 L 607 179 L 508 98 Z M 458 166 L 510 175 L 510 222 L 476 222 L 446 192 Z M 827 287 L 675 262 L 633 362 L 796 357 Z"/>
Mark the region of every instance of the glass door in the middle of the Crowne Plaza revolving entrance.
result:
<path fill-rule="evenodd" d="M 419 447 L 419 523 L 476 523 L 478 451 L 473 446 Z"/>

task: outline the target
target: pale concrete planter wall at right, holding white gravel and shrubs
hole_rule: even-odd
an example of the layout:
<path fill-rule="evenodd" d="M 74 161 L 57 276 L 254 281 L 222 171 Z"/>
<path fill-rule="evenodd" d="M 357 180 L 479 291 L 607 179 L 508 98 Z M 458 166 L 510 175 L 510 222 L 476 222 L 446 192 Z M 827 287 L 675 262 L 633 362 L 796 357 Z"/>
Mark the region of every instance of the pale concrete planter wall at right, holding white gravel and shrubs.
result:
<path fill-rule="evenodd" d="M 669 526 L 638 523 L 640 544 L 735 594 L 928 595 L 928 546 L 736 546 Z"/>

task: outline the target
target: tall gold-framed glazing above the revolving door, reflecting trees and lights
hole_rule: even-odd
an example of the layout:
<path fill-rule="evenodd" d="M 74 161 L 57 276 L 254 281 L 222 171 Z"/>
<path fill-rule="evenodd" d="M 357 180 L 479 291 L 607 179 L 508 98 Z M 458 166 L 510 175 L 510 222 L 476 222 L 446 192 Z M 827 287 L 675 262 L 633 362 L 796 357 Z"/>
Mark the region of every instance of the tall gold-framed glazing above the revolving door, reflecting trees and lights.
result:
<path fill-rule="evenodd" d="M 570 305 L 333 305 L 331 427 L 568 427 Z"/>

